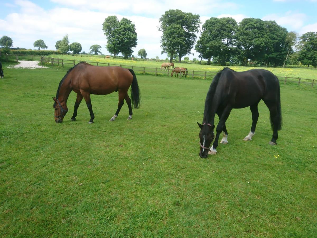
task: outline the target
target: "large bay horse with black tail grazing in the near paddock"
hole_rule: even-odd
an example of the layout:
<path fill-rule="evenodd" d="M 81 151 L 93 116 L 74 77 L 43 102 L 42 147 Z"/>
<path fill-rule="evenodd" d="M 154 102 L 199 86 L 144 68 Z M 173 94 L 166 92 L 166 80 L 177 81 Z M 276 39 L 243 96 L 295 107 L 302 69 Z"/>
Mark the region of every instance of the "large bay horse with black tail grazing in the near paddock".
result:
<path fill-rule="evenodd" d="M 128 89 L 131 85 L 131 99 L 128 95 Z M 76 120 L 77 109 L 81 100 L 84 98 L 89 109 L 89 123 L 94 122 L 94 113 L 90 100 L 90 94 L 106 95 L 114 91 L 119 92 L 118 109 L 114 116 L 110 119 L 113 121 L 119 114 L 123 99 L 129 107 L 128 120 L 132 119 L 132 104 L 134 109 L 138 109 L 140 105 L 140 93 L 137 78 L 132 69 L 125 69 L 119 66 L 100 67 L 93 66 L 87 63 L 78 63 L 73 68 L 69 69 L 66 75 L 59 83 L 56 97 L 54 100 L 55 122 L 62 122 L 66 115 L 67 99 L 71 91 L 77 93 L 77 98 L 74 106 L 74 113 L 71 118 Z"/>

